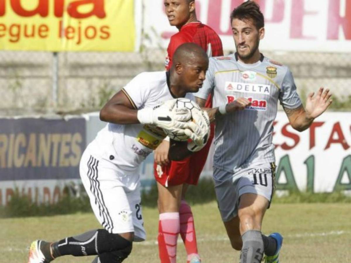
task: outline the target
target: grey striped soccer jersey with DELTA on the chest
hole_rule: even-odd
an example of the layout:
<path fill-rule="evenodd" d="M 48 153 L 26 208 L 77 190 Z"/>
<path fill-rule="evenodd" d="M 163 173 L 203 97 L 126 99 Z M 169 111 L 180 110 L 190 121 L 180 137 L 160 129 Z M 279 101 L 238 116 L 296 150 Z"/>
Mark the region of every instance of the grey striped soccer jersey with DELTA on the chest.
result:
<path fill-rule="evenodd" d="M 263 55 L 254 64 L 241 63 L 235 55 L 213 57 L 195 96 L 206 99 L 212 91 L 214 108 L 239 97 L 252 102 L 243 111 L 217 118 L 214 166 L 233 172 L 241 166 L 274 162 L 272 134 L 278 100 L 285 108 L 301 105 L 289 68 Z"/>

